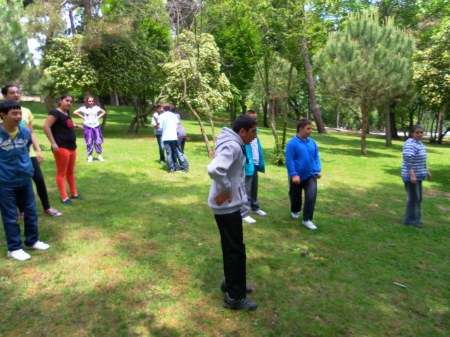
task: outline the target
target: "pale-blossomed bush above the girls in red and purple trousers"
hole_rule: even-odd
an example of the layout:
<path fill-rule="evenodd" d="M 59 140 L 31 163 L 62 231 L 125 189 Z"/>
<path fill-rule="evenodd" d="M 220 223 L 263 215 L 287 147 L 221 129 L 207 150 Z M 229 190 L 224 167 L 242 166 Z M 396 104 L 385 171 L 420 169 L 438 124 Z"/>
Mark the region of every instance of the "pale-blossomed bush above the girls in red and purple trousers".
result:
<path fill-rule="evenodd" d="M 42 72 L 40 84 L 51 97 L 75 89 L 83 93 L 95 91 L 97 73 L 77 46 L 80 39 L 81 35 L 56 37 L 44 48 L 44 57 L 39 64 Z"/>

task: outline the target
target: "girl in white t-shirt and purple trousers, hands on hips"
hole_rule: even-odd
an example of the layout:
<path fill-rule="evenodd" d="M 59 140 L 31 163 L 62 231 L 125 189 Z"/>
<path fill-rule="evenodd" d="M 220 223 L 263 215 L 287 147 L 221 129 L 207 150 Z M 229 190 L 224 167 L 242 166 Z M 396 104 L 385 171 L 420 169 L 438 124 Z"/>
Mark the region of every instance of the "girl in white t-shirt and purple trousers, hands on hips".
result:
<path fill-rule="evenodd" d="M 79 114 L 82 112 L 84 116 Z M 100 113 L 100 114 L 98 114 Z M 94 146 L 98 154 L 98 161 L 105 161 L 101 156 L 101 145 L 103 144 L 103 136 L 101 134 L 100 122 L 106 112 L 97 105 L 94 105 L 94 97 L 87 95 L 84 98 L 84 106 L 75 110 L 73 114 L 76 114 L 79 118 L 84 119 L 84 140 L 86 140 L 87 154 L 89 155 L 87 162 L 92 162 L 92 152 L 94 152 Z"/>

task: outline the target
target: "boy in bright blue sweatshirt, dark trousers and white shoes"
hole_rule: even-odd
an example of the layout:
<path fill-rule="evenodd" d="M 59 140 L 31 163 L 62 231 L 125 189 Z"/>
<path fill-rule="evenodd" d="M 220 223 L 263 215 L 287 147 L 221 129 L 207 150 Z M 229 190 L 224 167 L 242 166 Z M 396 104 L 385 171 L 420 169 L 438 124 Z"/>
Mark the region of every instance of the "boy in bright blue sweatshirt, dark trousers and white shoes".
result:
<path fill-rule="evenodd" d="M 302 224 L 310 230 L 317 230 L 312 222 L 317 197 L 317 179 L 322 177 L 321 159 L 316 142 L 309 138 L 312 126 L 309 119 L 297 122 L 297 135 L 286 145 L 286 168 L 289 176 L 290 212 L 299 218 L 302 210 L 302 190 L 304 206 Z"/>

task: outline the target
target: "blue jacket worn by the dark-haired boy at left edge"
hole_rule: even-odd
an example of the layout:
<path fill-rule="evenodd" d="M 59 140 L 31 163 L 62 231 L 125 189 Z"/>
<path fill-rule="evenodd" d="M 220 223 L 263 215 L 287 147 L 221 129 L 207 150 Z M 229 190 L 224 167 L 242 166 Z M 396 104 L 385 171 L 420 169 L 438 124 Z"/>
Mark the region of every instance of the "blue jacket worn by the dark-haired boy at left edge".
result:
<path fill-rule="evenodd" d="M 27 128 L 18 127 L 14 139 L 1 128 L 0 124 L 0 185 L 20 187 L 30 181 L 34 174 L 30 159 L 31 133 Z"/>

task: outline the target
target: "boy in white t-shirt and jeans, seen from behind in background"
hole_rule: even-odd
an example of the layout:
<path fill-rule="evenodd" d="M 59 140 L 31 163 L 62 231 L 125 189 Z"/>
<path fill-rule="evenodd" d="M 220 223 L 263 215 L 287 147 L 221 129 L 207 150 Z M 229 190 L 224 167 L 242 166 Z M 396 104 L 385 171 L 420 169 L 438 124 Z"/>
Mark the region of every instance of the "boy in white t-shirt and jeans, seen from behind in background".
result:
<path fill-rule="evenodd" d="M 158 124 L 162 128 L 162 144 L 167 154 L 167 166 L 169 166 L 169 173 L 174 173 L 178 170 L 178 163 L 176 162 L 176 142 L 178 141 L 178 134 L 176 133 L 176 124 L 179 123 L 176 114 L 170 111 L 169 103 L 162 103 L 164 112 L 158 117 Z"/>

